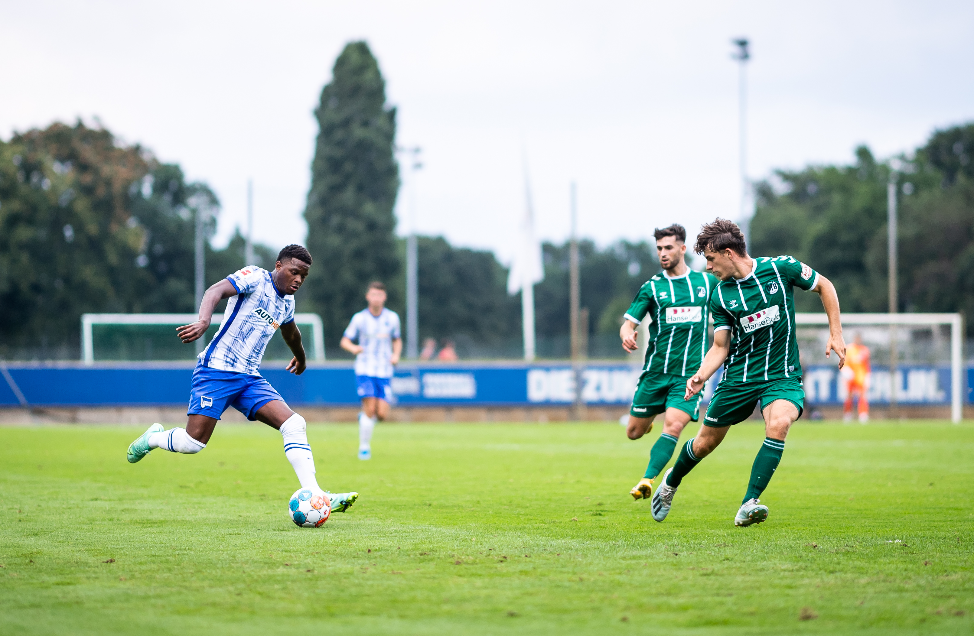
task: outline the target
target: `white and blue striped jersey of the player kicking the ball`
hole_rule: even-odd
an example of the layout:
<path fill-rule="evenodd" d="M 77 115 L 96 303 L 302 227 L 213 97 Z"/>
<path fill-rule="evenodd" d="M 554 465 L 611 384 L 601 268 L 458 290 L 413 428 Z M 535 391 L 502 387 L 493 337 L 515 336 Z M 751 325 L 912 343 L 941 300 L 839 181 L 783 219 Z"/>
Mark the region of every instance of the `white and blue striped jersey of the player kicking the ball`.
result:
<path fill-rule="evenodd" d="M 211 369 L 260 375 L 267 343 L 281 324 L 294 321 L 294 296 L 281 293 L 271 273 L 256 265 L 247 265 L 227 281 L 237 295 L 227 301 L 220 328 L 200 359 Z"/>

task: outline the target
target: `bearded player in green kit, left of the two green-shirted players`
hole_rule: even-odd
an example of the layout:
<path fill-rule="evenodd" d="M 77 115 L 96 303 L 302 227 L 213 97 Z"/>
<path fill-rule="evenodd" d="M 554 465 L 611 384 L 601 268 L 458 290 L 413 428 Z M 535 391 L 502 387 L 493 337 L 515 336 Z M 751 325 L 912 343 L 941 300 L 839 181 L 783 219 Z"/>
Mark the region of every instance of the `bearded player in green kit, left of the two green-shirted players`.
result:
<path fill-rule="evenodd" d="M 682 225 L 656 230 L 654 236 L 663 271 L 640 287 L 619 329 L 622 349 L 631 354 L 638 348 L 636 327 L 650 320 L 650 344 L 629 410 L 629 439 L 653 430 L 653 419 L 664 414 L 646 475 L 629 491 L 637 501 L 652 497 L 653 480 L 673 457 L 680 433 L 699 419 L 700 397 L 685 398 L 684 393 L 689 374 L 706 351 L 707 302 L 718 282 L 687 267 L 687 230 Z"/>

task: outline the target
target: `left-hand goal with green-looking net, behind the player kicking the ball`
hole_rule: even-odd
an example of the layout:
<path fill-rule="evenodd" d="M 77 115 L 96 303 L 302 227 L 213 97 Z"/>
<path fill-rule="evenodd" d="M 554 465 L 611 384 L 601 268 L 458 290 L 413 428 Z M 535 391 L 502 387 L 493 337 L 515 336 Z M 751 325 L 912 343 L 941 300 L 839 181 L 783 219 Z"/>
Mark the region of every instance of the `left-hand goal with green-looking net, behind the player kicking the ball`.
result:
<path fill-rule="evenodd" d="M 82 360 L 191 360 L 216 335 L 219 323 L 206 329 L 198 343 L 184 345 L 176 337 L 176 327 L 197 319 L 195 314 L 84 314 L 81 317 Z M 324 360 L 324 339 L 318 314 L 295 314 L 309 359 Z M 280 331 L 280 329 L 279 329 Z M 275 334 L 267 345 L 265 360 L 289 360 L 291 352 L 284 339 Z"/>

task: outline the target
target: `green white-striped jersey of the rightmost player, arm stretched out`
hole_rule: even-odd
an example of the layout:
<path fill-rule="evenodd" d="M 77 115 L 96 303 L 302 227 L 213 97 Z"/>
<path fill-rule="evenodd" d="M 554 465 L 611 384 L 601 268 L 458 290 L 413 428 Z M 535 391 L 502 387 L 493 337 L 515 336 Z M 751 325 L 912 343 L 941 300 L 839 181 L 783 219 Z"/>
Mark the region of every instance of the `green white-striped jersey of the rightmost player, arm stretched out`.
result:
<path fill-rule="evenodd" d="M 760 256 L 744 279 L 721 281 L 710 297 L 714 332 L 731 330 L 721 382 L 764 382 L 802 376 L 795 336 L 795 289 L 818 274 L 792 256 Z"/>

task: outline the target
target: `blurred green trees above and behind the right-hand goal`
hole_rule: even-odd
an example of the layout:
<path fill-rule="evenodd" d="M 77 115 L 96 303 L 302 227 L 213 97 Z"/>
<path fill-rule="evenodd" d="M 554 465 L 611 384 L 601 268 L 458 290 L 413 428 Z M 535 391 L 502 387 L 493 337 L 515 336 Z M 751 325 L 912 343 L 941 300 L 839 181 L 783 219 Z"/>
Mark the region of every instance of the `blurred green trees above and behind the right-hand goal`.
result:
<path fill-rule="evenodd" d="M 886 184 L 898 200 L 901 312 L 974 316 L 974 124 L 936 131 L 879 162 L 860 146 L 846 166 L 779 170 L 757 184 L 749 251 L 791 254 L 836 283 L 845 312 L 886 312 Z M 800 294 L 800 311 L 820 311 Z M 967 320 L 968 334 L 974 324 Z"/>

